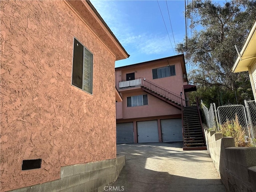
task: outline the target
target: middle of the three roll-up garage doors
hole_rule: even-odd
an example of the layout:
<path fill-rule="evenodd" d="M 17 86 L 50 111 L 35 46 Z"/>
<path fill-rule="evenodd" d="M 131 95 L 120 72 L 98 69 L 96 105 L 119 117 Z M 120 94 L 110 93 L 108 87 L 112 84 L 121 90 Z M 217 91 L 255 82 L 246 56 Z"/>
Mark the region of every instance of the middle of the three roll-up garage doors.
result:
<path fill-rule="evenodd" d="M 159 142 L 157 120 L 138 121 L 138 143 Z"/>

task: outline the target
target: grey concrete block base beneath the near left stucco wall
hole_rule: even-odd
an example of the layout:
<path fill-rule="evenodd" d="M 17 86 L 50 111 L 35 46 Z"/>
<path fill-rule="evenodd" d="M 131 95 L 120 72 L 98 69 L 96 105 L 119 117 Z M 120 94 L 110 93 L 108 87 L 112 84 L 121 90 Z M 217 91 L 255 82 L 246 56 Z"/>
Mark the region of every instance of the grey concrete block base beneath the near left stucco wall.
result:
<path fill-rule="evenodd" d="M 60 179 L 12 190 L 11 192 L 102 192 L 116 181 L 125 164 L 125 156 L 116 159 L 64 166 Z"/>

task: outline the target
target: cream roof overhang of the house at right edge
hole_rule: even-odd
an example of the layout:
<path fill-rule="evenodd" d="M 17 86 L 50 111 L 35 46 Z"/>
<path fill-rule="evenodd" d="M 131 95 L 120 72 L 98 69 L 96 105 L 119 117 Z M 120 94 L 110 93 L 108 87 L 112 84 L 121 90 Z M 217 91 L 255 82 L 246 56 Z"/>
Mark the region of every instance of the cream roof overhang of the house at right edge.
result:
<path fill-rule="evenodd" d="M 248 71 L 248 67 L 250 67 L 256 60 L 256 21 L 246 38 L 240 55 L 241 58 L 238 56 L 232 67 L 233 73 Z"/>

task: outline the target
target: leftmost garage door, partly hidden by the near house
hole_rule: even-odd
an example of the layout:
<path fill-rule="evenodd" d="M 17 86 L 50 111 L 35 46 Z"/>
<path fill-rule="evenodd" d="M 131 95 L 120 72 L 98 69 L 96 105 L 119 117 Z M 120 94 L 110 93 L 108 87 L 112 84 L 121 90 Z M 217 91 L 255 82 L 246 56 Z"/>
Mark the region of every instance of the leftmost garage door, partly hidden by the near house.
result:
<path fill-rule="evenodd" d="M 134 143 L 133 122 L 116 124 L 116 143 Z"/>

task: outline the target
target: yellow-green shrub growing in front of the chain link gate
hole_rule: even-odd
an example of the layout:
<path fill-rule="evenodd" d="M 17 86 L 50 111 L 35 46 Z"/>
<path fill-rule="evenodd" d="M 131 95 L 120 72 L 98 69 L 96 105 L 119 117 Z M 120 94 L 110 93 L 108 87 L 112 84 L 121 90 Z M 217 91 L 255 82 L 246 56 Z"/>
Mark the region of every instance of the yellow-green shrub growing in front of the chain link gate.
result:
<path fill-rule="evenodd" d="M 236 147 L 245 147 L 251 146 L 250 142 L 245 142 L 245 131 L 242 126 L 239 124 L 238 117 L 232 121 L 227 121 L 224 124 L 220 125 L 220 132 L 223 137 L 233 137 L 235 140 Z"/>

